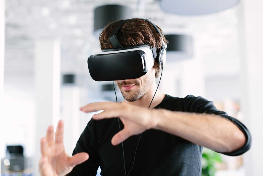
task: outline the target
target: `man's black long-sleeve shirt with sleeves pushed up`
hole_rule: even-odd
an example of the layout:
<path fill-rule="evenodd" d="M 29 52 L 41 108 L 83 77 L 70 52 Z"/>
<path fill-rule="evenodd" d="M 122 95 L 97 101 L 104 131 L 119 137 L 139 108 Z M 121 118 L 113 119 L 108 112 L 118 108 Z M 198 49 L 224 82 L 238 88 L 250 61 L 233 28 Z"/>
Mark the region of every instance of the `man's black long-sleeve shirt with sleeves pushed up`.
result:
<path fill-rule="evenodd" d="M 251 146 L 251 134 L 246 126 L 226 112 L 218 110 L 213 101 L 203 97 L 188 95 L 185 98 L 165 95 L 163 101 L 154 108 L 171 111 L 213 113 L 231 120 L 245 135 L 246 143 L 240 149 L 222 153 L 237 156 L 245 153 Z M 211 117 L 213 118 L 213 117 Z M 123 123 L 120 121 L 121 130 Z M 227 129 L 225 129 L 227 130 Z M 98 167 L 101 175 L 124 175 L 122 144 L 113 146 L 112 137 L 119 132 L 118 118 L 95 121 L 91 119 L 77 142 L 73 155 L 87 152 L 89 159 L 75 166 L 68 176 L 95 176 Z M 140 135 L 129 137 L 123 142 L 126 172 L 129 173 Z M 139 175 L 200 175 L 203 146 L 161 130 L 150 129 L 143 132 L 136 152 L 134 167 L 130 176 Z M 220 152 L 219 152 L 220 153 Z"/>

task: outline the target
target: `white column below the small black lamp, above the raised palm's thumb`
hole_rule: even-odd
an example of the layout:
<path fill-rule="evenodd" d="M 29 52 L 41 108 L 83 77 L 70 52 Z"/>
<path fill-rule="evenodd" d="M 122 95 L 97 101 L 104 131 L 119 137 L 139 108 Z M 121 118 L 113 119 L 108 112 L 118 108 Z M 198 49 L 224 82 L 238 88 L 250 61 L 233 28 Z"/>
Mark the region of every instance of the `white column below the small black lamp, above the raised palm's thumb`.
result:
<path fill-rule="evenodd" d="M 64 120 L 64 146 L 69 156 L 79 139 L 80 89 L 77 86 L 61 88 L 61 118 Z"/>

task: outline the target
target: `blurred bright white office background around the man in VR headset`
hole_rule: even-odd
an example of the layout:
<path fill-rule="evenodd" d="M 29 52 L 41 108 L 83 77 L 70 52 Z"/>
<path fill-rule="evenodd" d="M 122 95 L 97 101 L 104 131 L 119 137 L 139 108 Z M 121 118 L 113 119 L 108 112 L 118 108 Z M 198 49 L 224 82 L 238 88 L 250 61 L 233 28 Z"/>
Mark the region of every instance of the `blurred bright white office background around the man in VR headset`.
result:
<path fill-rule="evenodd" d="M 203 2 L 1 0 L 2 173 L 12 168 L 39 175 L 40 139 L 59 119 L 65 122 L 65 148 L 71 155 L 93 115 L 78 108 L 115 101 L 112 82 L 95 82 L 87 66 L 88 56 L 100 50 L 105 20 L 114 20 L 105 14 L 115 12 L 118 19 L 151 18 L 167 36 L 163 93 L 212 100 L 251 131 L 251 149 L 236 157 L 220 154 L 216 176 L 263 175 L 263 1 Z M 118 88 L 117 96 L 123 100 Z M 12 152 L 31 161 L 12 165 Z"/>

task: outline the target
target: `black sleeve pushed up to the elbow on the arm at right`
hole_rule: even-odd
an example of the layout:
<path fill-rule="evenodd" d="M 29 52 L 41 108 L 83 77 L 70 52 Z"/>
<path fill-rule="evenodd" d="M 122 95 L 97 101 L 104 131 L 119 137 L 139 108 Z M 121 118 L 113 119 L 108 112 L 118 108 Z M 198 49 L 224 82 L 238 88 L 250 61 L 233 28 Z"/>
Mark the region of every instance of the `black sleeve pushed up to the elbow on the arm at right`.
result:
<path fill-rule="evenodd" d="M 208 114 L 213 113 L 215 115 L 220 115 L 224 118 L 229 119 L 244 133 L 246 137 L 245 145 L 232 152 L 227 152 L 227 153 L 218 152 L 218 153 L 222 153 L 229 156 L 238 156 L 244 154 L 246 151 L 250 149 L 252 137 L 247 127 L 236 118 L 229 116 L 226 112 L 218 110 L 215 107 L 213 101 L 208 101 L 207 99 L 200 96 L 195 97 L 193 95 L 188 95 L 183 99 L 183 107 L 184 107 L 184 111 L 187 112 L 208 113 Z"/>

